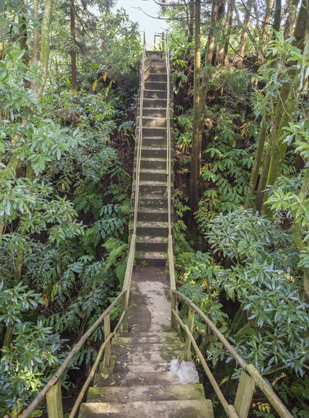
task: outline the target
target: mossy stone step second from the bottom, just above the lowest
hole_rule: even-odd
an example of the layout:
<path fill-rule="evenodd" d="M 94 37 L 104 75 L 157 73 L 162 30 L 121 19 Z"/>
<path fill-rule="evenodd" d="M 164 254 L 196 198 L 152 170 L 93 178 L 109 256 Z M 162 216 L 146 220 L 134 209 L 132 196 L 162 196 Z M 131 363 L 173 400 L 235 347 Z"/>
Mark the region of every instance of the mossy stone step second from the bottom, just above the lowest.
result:
<path fill-rule="evenodd" d="M 134 401 L 177 401 L 204 399 L 203 385 L 90 387 L 87 402 L 127 403 Z"/>

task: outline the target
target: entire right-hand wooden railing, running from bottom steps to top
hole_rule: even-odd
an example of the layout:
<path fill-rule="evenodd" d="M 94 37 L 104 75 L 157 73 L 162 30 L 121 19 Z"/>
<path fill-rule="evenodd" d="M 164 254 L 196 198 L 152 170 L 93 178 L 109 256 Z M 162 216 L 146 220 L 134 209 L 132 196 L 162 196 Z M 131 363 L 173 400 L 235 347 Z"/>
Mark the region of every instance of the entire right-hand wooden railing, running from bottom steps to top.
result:
<path fill-rule="evenodd" d="M 171 286 L 171 308 L 172 308 L 172 327 L 176 327 L 177 323 L 180 324 L 184 332 L 186 332 L 186 342 L 184 344 L 184 360 L 191 360 L 191 345 L 193 346 L 196 354 L 200 358 L 200 363 L 203 365 L 203 369 L 211 383 L 216 396 L 218 396 L 223 409 L 225 410 L 226 415 L 229 418 L 246 418 L 248 417 L 248 412 L 251 406 L 253 391 L 255 385 L 262 390 L 264 395 L 267 397 L 269 403 L 272 405 L 274 410 L 278 413 L 281 418 L 292 418 L 290 412 L 285 408 L 283 402 L 280 401 L 280 398 L 274 392 L 274 389 L 267 383 L 266 380 L 262 377 L 258 369 L 253 366 L 253 364 L 246 364 L 244 359 L 240 357 L 235 348 L 231 346 L 228 340 L 223 334 L 218 330 L 216 325 L 212 323 L 203 311 L 194 304 L 189 297 L 184 296 L 182 293 L 176 290 L 176 281 L 175 281 L 175 268 L 174 268 L 174 251 L 173 251 L 173 237 L 171 229 L 171 213 L 172 213 L 172 201 L 171 201 L 171 179 L 172 179 L 172 144 L 171 144 L 171 121 L 170 121 L 170 110 L 171 110 L 171 91 L 170 91 L 170 58 L 169 58 L 169 46 L 168 46 L 168 32 L 166 31 L 166 74 L 167 74 L 167 107 L 166 107 L 166 126 L 167 126 L 167 183 L 168 183 L 168 268 L 170 274 L 170 286 Z M 189 304 L 189 314 L 188 314 L 188 325 L 184 325 L 182 319 L 177 313 L 177 297 Z M 235 396 L 234 405 L 228 405 L 228 402 L 224 398 L 221 389 L 216 382 L 212 372 L 210 371 L 203 354 L 198 348 L 193 337 L 193 325 L 194 325 L 194 313 L 197 313 L 200 318 L 205 321 L 207 327 L 209 327 L 212 332 L 216 335 L 217 339 L 221 341 L 223 346 L 228 350 L 232 355 L 235 361 L 243 369 L 241 371 L 239 385 L 237 387 L 237 393 Z"/>

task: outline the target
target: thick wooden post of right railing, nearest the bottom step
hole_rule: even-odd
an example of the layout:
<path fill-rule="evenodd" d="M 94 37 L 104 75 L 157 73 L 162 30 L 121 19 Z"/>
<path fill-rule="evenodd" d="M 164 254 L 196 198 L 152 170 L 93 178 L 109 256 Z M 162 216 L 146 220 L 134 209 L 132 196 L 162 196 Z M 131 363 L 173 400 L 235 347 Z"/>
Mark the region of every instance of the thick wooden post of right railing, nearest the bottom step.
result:
<path fill-rule="evenodd" d="M 248 417 L 254 387 L 255 380 L 246 371 L 241 371 L 234 403 L 239 418 Z"/>

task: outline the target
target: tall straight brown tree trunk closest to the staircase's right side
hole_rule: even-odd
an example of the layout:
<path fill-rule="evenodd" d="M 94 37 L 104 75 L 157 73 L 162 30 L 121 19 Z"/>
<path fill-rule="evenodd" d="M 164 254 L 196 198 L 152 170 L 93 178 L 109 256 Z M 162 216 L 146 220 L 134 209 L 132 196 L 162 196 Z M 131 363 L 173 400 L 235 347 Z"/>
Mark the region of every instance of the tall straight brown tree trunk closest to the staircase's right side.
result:
<path fill-rule="evenodd" d="M 196 0 L 195 10 L 195 54 L 194 54 L 194 102 L 193 132 L 189 181 L 189 206 L 191 213 L 198 209 L 198 179 L 200 176 L 199 117 L 200 117 L 200 0 Z"/>

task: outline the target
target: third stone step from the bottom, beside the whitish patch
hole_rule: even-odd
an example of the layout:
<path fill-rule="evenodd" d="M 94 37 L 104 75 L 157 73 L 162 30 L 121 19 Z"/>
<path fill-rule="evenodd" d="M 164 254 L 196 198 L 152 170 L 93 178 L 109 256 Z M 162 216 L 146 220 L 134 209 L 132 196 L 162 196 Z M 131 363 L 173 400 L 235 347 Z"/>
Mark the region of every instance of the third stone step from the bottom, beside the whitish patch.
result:
<path fill-rule="evenodd" d="M 113 383 L 113 385 L 111 385 Z M 108 378 L 95 376 L 95 386 L 175 385 L 180 383 L 176 373 L 152 371 L 145 373 L 111 373 Z"/>

